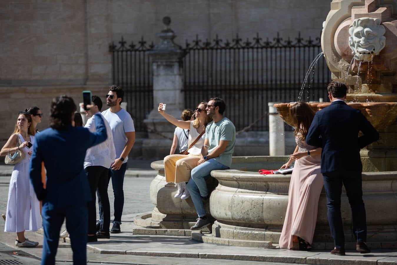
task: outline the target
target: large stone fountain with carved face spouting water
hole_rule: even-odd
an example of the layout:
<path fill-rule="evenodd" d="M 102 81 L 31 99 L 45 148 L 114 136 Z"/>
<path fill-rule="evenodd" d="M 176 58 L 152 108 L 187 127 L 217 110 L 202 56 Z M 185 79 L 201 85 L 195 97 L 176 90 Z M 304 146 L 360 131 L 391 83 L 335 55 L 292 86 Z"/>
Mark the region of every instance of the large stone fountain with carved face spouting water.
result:
<path fill-rule="evenodd" d="M 397 248 L 397 0 L 333 0 L 323 23 L 322 49 L 332 79 L 349 88 L 348 104 L 360 109 L 380 132 L 380 140 L 362 149 L 362 189 L 367 211 L 368 245 Z M 275 104 L 291 124 L 289 107 Z M 313 110 L 330 103 L 309 103 Z M 192 233 L 195 221 L 191 199 L 174 199 L 162 161 L 152 163 L 158 175 L 150 185 L 156 207 L 137 216 L 134 234 L 191 236 L 194 240 L 228 246 L 277 247 L 288 203 L 291 175 L 260 175 L 262 168 L 279 168 L 287 156 L 233 157 L 229 170 L 214 170 L 216 187 L 205 205 L 214 224 L 207 233 Z M 209 210 L 209 211 L 208 211 Z M 351 209 L 342 194 L 342 219 L 347 249 L 355 249 Z M 327 221 L 326 195 L 320 195 L 312 247 L 329 250 L 333 239 Z"/>

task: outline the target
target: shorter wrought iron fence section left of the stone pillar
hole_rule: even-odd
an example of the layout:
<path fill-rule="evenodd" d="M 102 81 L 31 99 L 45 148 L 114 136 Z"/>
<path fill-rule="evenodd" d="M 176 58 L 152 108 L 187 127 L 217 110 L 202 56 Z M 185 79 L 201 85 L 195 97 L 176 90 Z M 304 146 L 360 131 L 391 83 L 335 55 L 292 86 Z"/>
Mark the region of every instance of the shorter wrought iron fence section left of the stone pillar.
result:
<path fill-rule="evenodd" d="M 146 53 L 153 43 L 146 46 L 143 38 L 135 44 L 121 38 L 119 45 L 110 44 L 112 53 L 113 83 L 125 91 L 127 111 L 134 120 L 137 132 L 146 132 L 143 120 L 153 107 L 152 62 Z"/>

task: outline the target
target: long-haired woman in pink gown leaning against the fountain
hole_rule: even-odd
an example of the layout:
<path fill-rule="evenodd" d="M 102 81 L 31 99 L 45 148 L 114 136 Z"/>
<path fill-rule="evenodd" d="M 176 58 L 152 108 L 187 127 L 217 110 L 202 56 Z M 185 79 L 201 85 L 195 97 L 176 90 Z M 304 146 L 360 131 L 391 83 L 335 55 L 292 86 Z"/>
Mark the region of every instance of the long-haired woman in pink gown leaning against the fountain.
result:
<path fill-rule="evenodd" d="M 294 104 L 289 110 L 295 127 L 297 147 L 290 159 L 281 168 L 288 168 L 295 160 L 289 183 L 288 207 L 281 232 L 280 248 L 310 250 L 317 221 L 318 199 L 323 187 L 320 173 L 321 148 L 306 144 L 306 135 L 314 118 L 314 111 L 303 101 Z"/>

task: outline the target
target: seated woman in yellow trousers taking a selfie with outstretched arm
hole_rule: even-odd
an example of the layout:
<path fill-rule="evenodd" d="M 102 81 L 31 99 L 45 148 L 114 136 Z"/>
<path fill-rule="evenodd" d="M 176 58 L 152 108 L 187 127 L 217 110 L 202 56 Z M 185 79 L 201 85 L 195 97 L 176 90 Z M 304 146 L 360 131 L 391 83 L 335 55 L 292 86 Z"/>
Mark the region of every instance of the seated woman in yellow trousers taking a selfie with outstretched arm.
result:
<path fill-rule="evenodd" d="M 205 110 L 207 104 L 206 102 L 198 104 L 196 110 L 193 112 L 193 115 L 195 115 L 195 120 L 193 121 L 177 120 L 175 117 L 167 114 L 165 110 L 162 110 L 163 103 L 158 105 L 158 112 L 173 125 L 189 130 L 189 147 L 200 137 L 201 133 L 205 132 L 205 127 L 212 120 L 210 116 L 207 116 Z M 187 199 L 190 197 L 189 191 L 186 188 L 186 182 L 190 179 L 191 170 L 197 166 L 197 162 L 200 160 L 201 148 L 204 144 L 204 134 L 188 150 L 188 155 L 168 155 L 164 157 L 166 182 L 174 182 L 178 187 L 177 193 L 174 196 L 175 198 L 181 197 L 181 199 Z"/>

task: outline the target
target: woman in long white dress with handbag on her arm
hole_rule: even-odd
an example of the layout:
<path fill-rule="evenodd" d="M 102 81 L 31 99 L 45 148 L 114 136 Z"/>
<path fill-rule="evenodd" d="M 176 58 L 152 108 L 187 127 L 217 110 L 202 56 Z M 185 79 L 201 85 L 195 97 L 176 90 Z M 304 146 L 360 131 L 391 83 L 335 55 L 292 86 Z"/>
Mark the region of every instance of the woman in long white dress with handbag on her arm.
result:
<path fill-rule="evenodd" d="M 25 157 L 15 164 L 12 171 L 10 188 L 8 191 L 6 226 L 4 232 L 16 232 L 17 247 L 35 247 L 39 242 L 25 238 L 25 231 L 37 231 L 41 228 L 40 204 L 29 178 L 29 161 L 32 148 L 28 142 L 35 144 L 35 127 L 28 112 L 18 115 L 14 133 L 0 151 L 0 156 L 12 155 L 18 150 L 25 153 Z M 18 145 L 18 137 L 21 145 Z"/>

